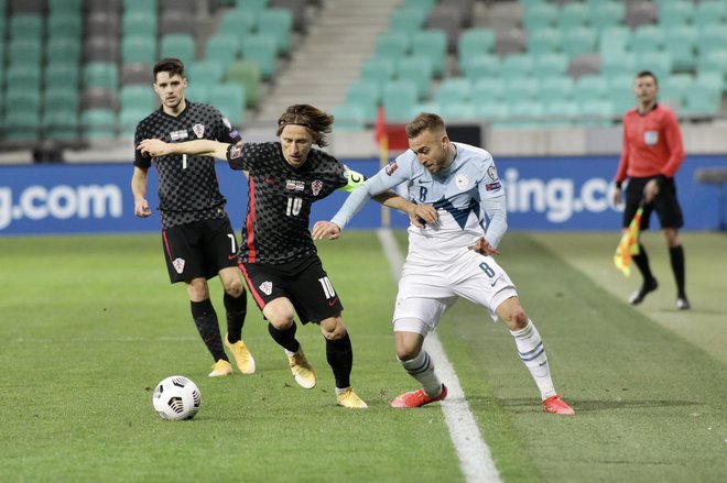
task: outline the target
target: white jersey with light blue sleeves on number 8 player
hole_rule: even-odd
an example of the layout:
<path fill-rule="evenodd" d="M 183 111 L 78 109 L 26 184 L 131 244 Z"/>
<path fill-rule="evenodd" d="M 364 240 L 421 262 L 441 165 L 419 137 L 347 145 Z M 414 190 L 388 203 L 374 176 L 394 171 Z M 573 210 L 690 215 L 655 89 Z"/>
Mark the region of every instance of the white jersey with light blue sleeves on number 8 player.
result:
<path fill-rule="evenodd" d="M 492 156 L 480 147 L 453 144 L 454 162 L 436 174 L 408 150 L 354 190 L 332 221 L 343 229 L 368 198 L 404 183 L 412 202 L 432 205 L 440 216 L 434 226 L 409 227 L 408 261 L 451 260 L 482 234 L 497 246 L 507 230 L 507 212 L 504 188 Z M 487 229 L 485 213 L 489 218 Z"/>

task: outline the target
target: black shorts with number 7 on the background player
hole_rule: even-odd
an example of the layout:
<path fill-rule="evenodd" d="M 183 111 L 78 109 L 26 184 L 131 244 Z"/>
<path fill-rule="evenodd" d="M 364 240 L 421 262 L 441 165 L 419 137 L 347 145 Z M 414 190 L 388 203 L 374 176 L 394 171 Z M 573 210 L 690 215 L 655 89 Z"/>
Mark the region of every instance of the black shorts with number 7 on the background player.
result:
<path fill-rule="evenodd" d="M 172 283 L 216 277 L 237 266 L 237 239 L 228 218 L 200 220 L 162 230 L 166 270 Z"/>

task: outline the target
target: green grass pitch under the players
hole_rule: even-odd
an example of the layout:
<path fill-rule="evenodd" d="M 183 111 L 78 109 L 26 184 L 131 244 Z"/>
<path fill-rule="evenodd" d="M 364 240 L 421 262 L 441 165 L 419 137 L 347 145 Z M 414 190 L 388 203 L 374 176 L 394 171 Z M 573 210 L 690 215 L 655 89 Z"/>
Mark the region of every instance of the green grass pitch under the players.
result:
<path fill-rule="evenodd" d="M 683 235 L 688 312 L 673 306 L 655 233 L 644 242 L 660 289 L 625 303 L 639 277 L 612 267 L 618 237 L 510 232 L 500 246 L 575 417 L 541 411 L 512 337 L 481 310 L 459 301 L 440 326 L 507 483 L 727 474 L 727 237 Z M 365 411 L 336 406 L 315 326 L 299 336 L 318 385 L 297 387 L 251 300 L 243 339 L 258 372 L 207 377 L 211 358 L 158 234 L 0 238 L 0 481 L 464 482 L 438 405 L 388 406 L 415 382 L 393 353 L 397 286 L 376 233 L 318 246 L 346 307 Z M 211 295 L 224 316 L 217 281 Z M 153 411 L 154 385 L 173 374 L 202 391 L 191 421 Z"/>

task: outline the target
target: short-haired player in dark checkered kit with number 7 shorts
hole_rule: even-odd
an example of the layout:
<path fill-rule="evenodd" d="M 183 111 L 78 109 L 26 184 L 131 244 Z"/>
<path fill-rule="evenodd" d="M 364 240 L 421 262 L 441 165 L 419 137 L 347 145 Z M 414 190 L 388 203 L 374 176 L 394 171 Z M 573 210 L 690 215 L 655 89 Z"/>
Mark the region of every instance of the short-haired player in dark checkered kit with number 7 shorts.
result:
<path fill-rule="evenodd" d="M 134 145 L 148 138 L 167 142 L 189 139 L 238 142 L 240 134 L 211 106 L 185 99 L 187 79 L 184 64 L 165 58 L 154 66 L 154 91 L 161 107 L 137 125 Z M 210 377 L 232 373 L 225 353 L 227 347 L 243 374 L 254 373 L 254 359 L 242 341 L 247 315 L 247 293 L 237 266 L 237 239 L 219 193 L 215 161 L 208 157 L 166 155 L 150 158 L 134 153 L 131 189 L 134 215 L 151 216 L 147 202 L 149 167 L 159 176 L 159 211 L 162 218 L 162 246 L 171 282 L 184 282 L 192 317 L 215 363 Z M 223 342 L 217 314 L 209 300 L 207 281 L 219 276 L 225 288 L 227 336 Z"/>

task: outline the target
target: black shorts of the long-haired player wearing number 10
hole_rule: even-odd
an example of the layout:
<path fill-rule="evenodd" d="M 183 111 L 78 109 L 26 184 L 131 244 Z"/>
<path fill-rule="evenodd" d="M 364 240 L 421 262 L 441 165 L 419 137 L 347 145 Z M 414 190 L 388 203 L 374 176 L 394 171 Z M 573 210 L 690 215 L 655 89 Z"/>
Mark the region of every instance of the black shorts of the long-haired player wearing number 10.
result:
<path fill-rule="evenodd" d="M 276 265 L 240 262 L 240 268 L 260 310 L 280 297 L 291 300 L 302 323 L 319 322 L 344 310 L 317 255 Z"/>

